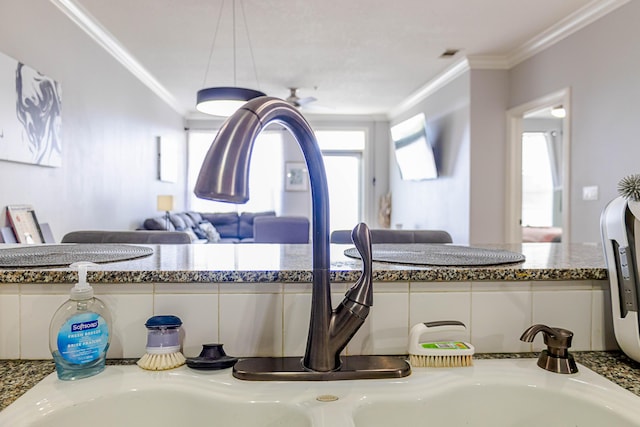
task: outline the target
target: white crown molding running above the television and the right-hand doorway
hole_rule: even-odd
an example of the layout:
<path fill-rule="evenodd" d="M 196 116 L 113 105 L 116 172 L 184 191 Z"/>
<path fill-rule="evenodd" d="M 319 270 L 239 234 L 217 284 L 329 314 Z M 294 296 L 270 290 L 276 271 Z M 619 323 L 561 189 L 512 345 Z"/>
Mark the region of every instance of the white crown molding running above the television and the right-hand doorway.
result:
<path fill-rule="evenodd" d="M 436 90 L 468 70 L 509 70 L 528 58 L 548 49 L 571 34 L 597 21 L 630 0 L 594 0 L 558 23 L 547 28 L 508 55 L 469 55 L 430 80 L 418 91 L 389 111 L 394 118 L 414 107 Z"/>

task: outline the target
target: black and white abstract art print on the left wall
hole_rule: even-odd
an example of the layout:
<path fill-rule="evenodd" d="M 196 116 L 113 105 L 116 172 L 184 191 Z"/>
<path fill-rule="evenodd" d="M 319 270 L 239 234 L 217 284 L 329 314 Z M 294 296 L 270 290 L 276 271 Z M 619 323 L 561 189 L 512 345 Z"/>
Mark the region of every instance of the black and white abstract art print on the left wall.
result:
<path fill-rule="evenodd" d="M 0 160 L 62 165 L 60 85 L 0 53 Z"/>

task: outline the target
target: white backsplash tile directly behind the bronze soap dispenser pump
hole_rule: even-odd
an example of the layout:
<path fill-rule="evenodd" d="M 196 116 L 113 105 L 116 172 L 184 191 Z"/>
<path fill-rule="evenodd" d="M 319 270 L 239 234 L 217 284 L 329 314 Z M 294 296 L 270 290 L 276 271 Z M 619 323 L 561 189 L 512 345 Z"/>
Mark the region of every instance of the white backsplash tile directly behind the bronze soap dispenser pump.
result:
<path fill-rule="evenodd" d="M 591 349 L 591 291 L 533 292 L 532 324 L 568 329 L 573 332 L 571 350 Z M 533 342 L 534 351 L 547 348 L 542 334 Z"/>

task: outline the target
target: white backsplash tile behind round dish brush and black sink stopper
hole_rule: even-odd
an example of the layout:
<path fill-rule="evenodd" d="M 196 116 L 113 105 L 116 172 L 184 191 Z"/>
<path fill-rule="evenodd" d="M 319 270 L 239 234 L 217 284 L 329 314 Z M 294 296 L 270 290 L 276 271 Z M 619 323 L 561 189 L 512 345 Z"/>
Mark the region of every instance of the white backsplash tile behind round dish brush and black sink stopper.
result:
<path fill-rule="evenodd" d="M 167 314 L 182 320 L 182 353 L 186 357 L 198 356 L 202 344 L 218 342 L 217 293 L 156 294 L 153 315 Z"/>

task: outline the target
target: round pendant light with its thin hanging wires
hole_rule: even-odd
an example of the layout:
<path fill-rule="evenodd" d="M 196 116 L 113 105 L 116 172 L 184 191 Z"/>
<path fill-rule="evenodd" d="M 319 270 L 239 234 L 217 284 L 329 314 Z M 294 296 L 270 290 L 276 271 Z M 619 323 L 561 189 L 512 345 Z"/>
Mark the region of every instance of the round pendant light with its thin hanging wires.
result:
<path fill-rule="evenodd" d="M 213 48 L 218 36 L 218 28 L 220 27 L 220 18 L 222 16 L 222 8 L 224 7 L 224 1 L 220 6 L 220 13 L 218 14 L 218 24 L 213 36 L 213 43 L 211 44 L 211 51 L 209 52 L 209 61 L 207 63 L 207 69 L 204 74 L 203 86 L 207 80 L 207 74 L 209 73 L 209 66 L 211 65 L 211 57 L 213 56 Z M 255 61 L 253 60 L 253 50 L 251 49 L 251 39 L 249 38 L 249 30 L 247 27 L 246 16 L 244 14 L 244 8 L 242 8 L 242 17 L 244 20 L 245 28 L 247 28 L 247 39 L 249 41 L 249 52 L 251 53 L 251 62 L 253 64 L 253 70 L 256 74 L 256 80 L 258 79 Z M 250 101 L 259 96 L 266 96 L 265 93 L 255 90 L 247 89 L 236 86 L 236 2 L 232 1 L 232 16 L 233 16 L 233 86 L 222 87 L 209 87 L 200 89 L 197 93 L 196 110 L 201 113 L 211 114 L 213 116 L 228 117 L 233 114 L 238 108 L 242 107 L 247 101 Z"/>

